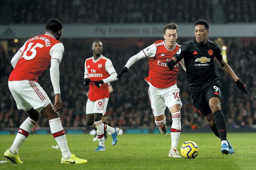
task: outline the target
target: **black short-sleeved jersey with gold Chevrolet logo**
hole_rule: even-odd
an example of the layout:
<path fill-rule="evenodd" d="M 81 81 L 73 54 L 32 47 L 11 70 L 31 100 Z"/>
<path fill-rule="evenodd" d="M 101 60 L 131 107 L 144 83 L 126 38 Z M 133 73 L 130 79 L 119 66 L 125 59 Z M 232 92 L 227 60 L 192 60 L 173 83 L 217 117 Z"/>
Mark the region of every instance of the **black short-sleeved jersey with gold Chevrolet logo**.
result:
<path fill-rule="evenodd" d="M 218 81 L 213 58 L 216 57 L 217 60 L 221 61 L 222 55 L 220 47 L 216 43 L 207 40 L 205 44 L 199 44 L 194 38 L 184 42 L 174 57 L 178 61 L 184 58 L 189 90 L 199 92 Z"/>

